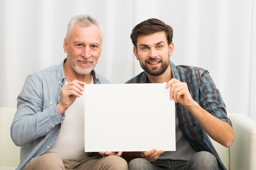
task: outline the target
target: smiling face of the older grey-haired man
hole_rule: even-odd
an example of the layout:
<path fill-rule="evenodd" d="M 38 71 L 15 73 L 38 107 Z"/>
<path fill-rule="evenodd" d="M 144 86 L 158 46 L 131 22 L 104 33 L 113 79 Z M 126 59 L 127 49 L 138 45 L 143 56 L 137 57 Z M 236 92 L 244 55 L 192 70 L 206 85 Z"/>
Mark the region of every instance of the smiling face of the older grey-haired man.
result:
<path fill-rule="evenodd" d="M 67 63 L 79 74 L 89 74 L 101 55 L 101 32 L 91 24 L 88 27 L 75 24 L 69 39 L 64 40 Z"/>

